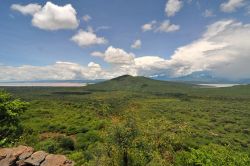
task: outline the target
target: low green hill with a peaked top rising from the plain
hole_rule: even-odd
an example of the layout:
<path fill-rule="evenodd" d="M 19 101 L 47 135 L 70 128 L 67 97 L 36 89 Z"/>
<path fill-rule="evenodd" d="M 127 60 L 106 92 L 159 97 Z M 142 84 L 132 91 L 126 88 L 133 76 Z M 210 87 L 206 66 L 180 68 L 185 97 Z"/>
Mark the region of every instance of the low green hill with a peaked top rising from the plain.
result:
<path fill-rule="evenodd" d="M 86 90 L 96 91 L 140 91 L 140 92 L 182 92 L 188 88 L 198 87 L 193 84 L 159 81 L 143 76 L 123 75 L 111 80 L 91 84 Z"/>

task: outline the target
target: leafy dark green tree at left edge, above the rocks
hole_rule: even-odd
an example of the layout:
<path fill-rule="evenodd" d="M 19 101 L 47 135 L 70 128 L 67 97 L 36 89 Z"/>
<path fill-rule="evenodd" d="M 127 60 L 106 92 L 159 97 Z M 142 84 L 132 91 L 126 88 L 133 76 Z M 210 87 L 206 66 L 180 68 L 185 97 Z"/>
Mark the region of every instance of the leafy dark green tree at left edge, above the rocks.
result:
<path fill-rule="evenodd" d="M 27 109 L 28 103 L 0 91 L 0 146 L 10 143 L 22 134 L 20 114 Z"/>

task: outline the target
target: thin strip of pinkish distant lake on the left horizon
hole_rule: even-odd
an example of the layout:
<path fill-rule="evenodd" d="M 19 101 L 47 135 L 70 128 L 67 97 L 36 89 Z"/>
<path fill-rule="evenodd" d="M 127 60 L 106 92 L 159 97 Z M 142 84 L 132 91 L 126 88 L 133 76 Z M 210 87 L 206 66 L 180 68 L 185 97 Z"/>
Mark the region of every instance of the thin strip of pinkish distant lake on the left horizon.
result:
<path fill-rule="evenodd" d="M 32 82 L 32 83 L 3 83 L 0 82 L 0 86 L 44 86 L 44 87 L 82 87 L 82 86 L 86 86 L 86 83 L 72 83 L 72 82 Z"/>

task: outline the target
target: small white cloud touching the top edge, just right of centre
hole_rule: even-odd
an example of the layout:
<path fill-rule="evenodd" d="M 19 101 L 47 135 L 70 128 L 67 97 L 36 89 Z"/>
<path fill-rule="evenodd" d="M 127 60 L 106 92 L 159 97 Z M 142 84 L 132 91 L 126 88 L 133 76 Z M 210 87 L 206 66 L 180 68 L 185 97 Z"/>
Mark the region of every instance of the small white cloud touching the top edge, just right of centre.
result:
<path fill-rule="evenodd" d="M 168 17 L 174 16 L 181 10 L 183 2 L 181 0 L 168 0 L 165 7 L 165 12 Z"/>

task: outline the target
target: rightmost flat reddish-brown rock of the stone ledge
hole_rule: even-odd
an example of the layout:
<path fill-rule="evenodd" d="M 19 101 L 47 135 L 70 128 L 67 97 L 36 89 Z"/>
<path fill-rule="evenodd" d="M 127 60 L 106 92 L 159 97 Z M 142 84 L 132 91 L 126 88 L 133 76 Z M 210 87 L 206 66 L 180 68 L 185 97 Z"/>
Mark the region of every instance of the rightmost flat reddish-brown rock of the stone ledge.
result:
<path fill-rule="evenodd" d="M 69 161 L 63 155 L 48 155 L 42 162 L 41 166 L 73 166 L 73 163 Z"/>

